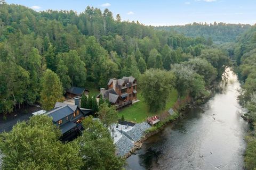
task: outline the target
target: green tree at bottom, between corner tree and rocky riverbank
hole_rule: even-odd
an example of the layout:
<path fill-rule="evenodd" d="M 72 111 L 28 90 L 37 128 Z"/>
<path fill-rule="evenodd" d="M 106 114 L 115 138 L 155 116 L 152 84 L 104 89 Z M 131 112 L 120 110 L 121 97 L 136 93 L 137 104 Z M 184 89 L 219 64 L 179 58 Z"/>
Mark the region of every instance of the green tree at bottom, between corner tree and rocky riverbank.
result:
<path fill-rule="evenodd" d="M 78 138 L 82 169 L 122 169 L 125 160 L 115 155 L 115 145 L 107 128 L 100 121 L 93 121 L 91 116 L 82 123 L 85 130 Z"/>

